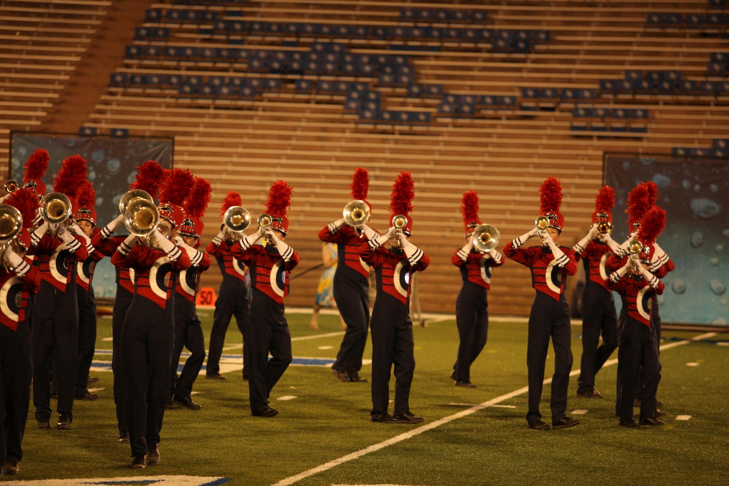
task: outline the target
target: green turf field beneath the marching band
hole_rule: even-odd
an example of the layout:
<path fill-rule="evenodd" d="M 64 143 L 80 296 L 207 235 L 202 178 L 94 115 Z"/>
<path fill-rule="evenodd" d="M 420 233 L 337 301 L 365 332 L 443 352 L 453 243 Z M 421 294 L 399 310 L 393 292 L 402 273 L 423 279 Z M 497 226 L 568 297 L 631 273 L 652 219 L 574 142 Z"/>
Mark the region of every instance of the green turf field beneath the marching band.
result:
<path fill-rule="evenodd" d="M 200 318 L 208 336 L 212 312 L 202 311 Z M 321 315 L 318 332 L 308 330 L 307 323 L 308 315 L 290 314 L 292 336 L 340 331 L 338 318 L 332 315 Z M 468 404 L 497 399 L 526 386 L 526 324 L 491 323 L 486 349 L 472 369 L 476 389 L 456 388 L 448 379 L 458 345 L 454 321 L 416 327 L 414 332 L 417 366 L 410 406 L 426 417 L 421 426 L 466 410 Z M 580 326 L 574 326 L 573 370 L 580 367 L 578 334 Z M 663 344 L 699 334 L 666 331 Z M 110 336 L 111 320 L 100 318 L 97 348 L 111 348 L 111 342 L 104 340 Z M 294 356 L 333 358 L 340 340 L 340 335 L 295 339 Z M 226 345 L 240 342 L 231 324 Z M 224 351 L 240 352 L 240 348 Z M 365 358 L 369 357 L 368 346 Z M 116 442 L 112 374 L 97 370 L 92 375 L 101 381 L 93 386 L 104 388 L 98 392 L 101 398 L 76 402 L 71 430 L 36 430 L 31 409 L 21 475 L 13 481 L 122 476 L 144 481 L 144 477 L 184 474 L 226 477 L 234 485 L 726 484 L 729 383 L 722 373 L 729 364 L 729 348 L 691 342 L 664 350 L 661 361 L 658 396 L 668 412 L 663 427 L 628 430 L 617 426 L 613 415 L 616 366 L 612 365 L 598 375 L 597 388 L 605 399 L 578 399 L 574 395 L 577 377 L 570 380 L 568 415 L 574 409 L 588 410 L 580 415 L 580 426 L 529 430 L 524 420 L 526 393 L 521 393 L 496 403 L 510 407 L 485 407 L 298 482 L 282 480 L 418 426 L 371 423 L 369 384 L 340 383 L 327 367 L 289 367 L 271 395 L 273 407 L 281 413 L 276 418 L 254 418 L 247 383 L 243 384 L 239 371 L 229 372 L 225 382 L 198 379 L 199 393 L 193 398 L 203 409 L 168 411 L 160 464 L 133 471 L 128 468 L 129 445 Z M 369 371 L 365 366 L 362 375 L 368 377 Z M 545 385 L 542 414 L 547 422 L 549 393 Z M 280 401 L 281 396 L 296 398 Z M 677 415 L 691 418 L 676 420 Z"/>

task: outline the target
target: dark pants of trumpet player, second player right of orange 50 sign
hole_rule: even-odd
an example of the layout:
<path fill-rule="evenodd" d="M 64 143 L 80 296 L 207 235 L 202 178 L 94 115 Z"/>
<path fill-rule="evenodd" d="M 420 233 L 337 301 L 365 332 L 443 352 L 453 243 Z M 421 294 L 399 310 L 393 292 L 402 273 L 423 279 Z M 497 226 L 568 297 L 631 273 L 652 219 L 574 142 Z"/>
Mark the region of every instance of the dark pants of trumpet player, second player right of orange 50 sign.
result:
<path fill-rule="evenodd" d="M 251 412 L 260 413 L 268 407 L 271 390 L 284 375 L 292 361 L 291 334 L 284 315 L 284 305 L 253 289 L 251 327 L 246 340 L 248 359 L 248 390 Z M 271 358 L 268 358 L 270 353 Z"/>

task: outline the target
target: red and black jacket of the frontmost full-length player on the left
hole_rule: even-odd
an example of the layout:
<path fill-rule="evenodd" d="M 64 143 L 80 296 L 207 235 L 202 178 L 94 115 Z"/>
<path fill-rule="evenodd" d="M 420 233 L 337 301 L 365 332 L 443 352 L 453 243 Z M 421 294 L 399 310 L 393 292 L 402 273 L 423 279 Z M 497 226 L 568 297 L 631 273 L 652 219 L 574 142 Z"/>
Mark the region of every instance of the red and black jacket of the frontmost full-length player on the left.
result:
<path fill-rule="evenodd" d="M 155 302 L 163 309 L 174 291 L 175 271 L 190 267 L 190 256 L 182 248 L 176 248 L 176 258 L 171 259 L 164 251 L 135 245 L 132 248 L 121 244 L 112 256 L 112 264 L 134 269 L 136 277 L 135 295 L 141 295 Z"/>

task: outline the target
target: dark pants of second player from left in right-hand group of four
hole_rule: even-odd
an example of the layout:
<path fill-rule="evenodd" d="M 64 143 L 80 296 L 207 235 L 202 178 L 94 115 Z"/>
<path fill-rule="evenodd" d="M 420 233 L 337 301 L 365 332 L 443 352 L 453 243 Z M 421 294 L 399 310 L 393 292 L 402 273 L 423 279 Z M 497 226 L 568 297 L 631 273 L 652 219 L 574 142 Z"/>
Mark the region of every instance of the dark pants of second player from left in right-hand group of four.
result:
<path fill-rule="evenodd" d="M 600 335 L 602 344 L 600 345 Z M 612 292 L 588 280 L 582 294 L 582 360 L 577 393 L 595 388 L 595 375 L 617 349 L 617 315 Z"/>

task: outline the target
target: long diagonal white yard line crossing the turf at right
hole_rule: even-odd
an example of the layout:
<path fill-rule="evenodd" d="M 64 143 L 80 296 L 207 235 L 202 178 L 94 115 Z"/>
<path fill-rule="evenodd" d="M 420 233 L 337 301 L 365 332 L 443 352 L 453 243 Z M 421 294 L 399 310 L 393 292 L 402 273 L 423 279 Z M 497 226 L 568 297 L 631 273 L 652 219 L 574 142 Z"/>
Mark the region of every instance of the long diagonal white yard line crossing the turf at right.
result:
<path fill-rule="evenodd" d="M 677 346 L 688 344 L 691 341 L 699 341 L 703 340 L 709 337 L 716 336 L 716 332 L 707 332 L 706 334 L 701 334 L 699 336 L 693 337 L 690 340 L 684 340 L 684 341 L 676 341 L 671 342 L 669 344 L 663 345 L 660 347 L 660 350 L 667 350 L 671 348 L 676 348 Z M 602 365 L 602 367 L 609 367 L 613 364 L 617 364 L 617 359 L 611 359 L 609 361 L 606 361 L 605 364 Z M 570 372 L 569 376 L 575 376 L 579 375 L 580 370 L 574 369 L 572 372 Z M 544 381 L 544 384 L 547 385 L 549 383 L 552 383 L 552 379 L 548 378 Z M 376 452 L 378 450 L 384 449 L 385 447 L 388 447 L 392 444 L 397 444 L 398 442 L 402 442 L 404 440 L 410 439 L 410 437 L 414 437 L 417 435 L 420 435 L 426 431 L 432 430 L 433 428 L 437 428 L 440 426 L 445 425 L 446 423 L 453 422 L 453 420 L 458 420 L 459 418 L 467 417 L 468 415 L 472 415 L 475 412 L 479 412 L 480 410 L 485 409 L 486 407 L 491 407 L 493 405 L 499 404 L 502 401 L 506 401 L 508 399 L 512 399 L 515 396 L 522 395 L 523 393 L 526 393 L 529 391 L 529 387 L 522 387 L 518 390 L 512 391 L 510 393 L 506 393 L 502 396 L 497 396 L 495 399 L 491 399 L 489 401 L 484 401 L 483 403 L 477 404 L 473 407 L 470 407 L 465 410 L 461 410 L 460 412 L 456 412 L 453 415 L 448 415 L 447 417 L 440 418 L 438 420 L 434 420 L 433 422 L 426 423 L 424 426 L 420 426 L 418 428 L 413 428 L 410 431 L 403 432 L 402 434 L 399 434 L 397 436 L 391 437 L 390 439 L 387 439 L 383 442 L 378 442 L 377 444 L 372 444 L 370 447 L 365 447 L 364 449 L 357 450 L 355 452 L 351 452 L 347 455 L 343 455 L 340 458 L 330 460 L 328 463 L 321 464 L 319 466 L 316 466 L 312 469 L 308 469 L 307 471 L 300 472 L 299 474 L 295 474 L 294 476 L 287 477 L 286 479 L 281 479 L 281 481 L 276 482 L 273 486 L 289 486 L 293 485 L 295 482 L 299 482 L 302 479 L 308 478 L 313 476 L 314 474 L 319 474 L 320 472 L 328 471 L 329 469 L 335 468 L 336 466 L 339 466 L 340 464 L 346 463 L 350 460 L 361 458 L 363 455 L 370 454 L 371 452 Z"/>

